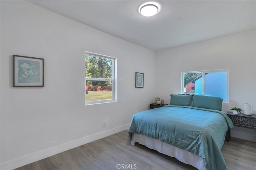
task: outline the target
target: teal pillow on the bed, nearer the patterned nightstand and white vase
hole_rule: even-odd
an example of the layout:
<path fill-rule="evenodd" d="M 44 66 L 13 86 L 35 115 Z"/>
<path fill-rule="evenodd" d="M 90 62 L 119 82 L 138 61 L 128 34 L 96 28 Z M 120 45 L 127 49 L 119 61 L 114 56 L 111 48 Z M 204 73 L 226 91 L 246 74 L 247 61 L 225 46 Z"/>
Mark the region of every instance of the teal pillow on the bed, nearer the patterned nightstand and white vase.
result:
<path fill-rule="evenodd" d="M 223 99 L 215 96 L 193 95 L 193 106 L 206 109 L 221 110 Z"/>

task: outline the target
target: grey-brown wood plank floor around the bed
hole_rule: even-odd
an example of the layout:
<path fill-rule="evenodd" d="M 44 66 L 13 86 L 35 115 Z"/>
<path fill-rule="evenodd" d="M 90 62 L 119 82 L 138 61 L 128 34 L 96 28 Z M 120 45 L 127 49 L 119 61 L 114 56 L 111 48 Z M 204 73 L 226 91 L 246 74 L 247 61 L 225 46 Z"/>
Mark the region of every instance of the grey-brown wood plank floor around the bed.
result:
<path fill-rule="evenodd" d="M 256 170 L 256 143 L 231 138 L 222 147 L 228 170 Z M 122 168 L 123 164 L 123 168 Z M 67 150 L 16 170 L 196 170 L 176 158 L 136 143 L 128 131 Z"/>

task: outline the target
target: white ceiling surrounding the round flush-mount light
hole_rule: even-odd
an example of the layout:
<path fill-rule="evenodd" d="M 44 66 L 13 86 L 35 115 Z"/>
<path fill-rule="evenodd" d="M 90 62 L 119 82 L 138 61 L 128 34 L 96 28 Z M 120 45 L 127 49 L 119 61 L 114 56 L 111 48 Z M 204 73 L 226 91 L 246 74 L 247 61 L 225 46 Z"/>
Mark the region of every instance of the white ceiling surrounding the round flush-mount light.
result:
<path fill-rule="evenodd" d="M 28 0 L 153 51 L 256 29 L 256 1 L 157 0 L 144 17 L 142 0 Z"/>

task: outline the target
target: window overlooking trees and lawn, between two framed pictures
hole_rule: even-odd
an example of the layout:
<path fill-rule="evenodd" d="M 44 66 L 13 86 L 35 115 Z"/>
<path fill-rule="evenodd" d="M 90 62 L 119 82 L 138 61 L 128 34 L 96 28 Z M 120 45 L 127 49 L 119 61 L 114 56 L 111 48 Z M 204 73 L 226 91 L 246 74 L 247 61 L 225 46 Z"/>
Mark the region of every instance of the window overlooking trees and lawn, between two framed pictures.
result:
<path fill-rule="evenodd" d="M 116 58 L 86 52 L 85 105 L 116 101 Z"/>

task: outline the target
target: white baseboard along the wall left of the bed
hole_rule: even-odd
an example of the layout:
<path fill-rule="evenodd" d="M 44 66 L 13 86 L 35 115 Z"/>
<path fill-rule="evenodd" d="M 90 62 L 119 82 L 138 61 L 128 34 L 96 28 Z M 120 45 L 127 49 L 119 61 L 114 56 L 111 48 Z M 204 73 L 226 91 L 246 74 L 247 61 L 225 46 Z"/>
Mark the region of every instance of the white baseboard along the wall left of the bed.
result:
<path fill-rule="evenodd" d="M 14 160 L 10 160 L 8 162 L 1 163 L 0 169 L 1 170 L 13 170 L 13 169 L 18 168 L 20 166 L 24 166 L 26 164 L 36 162 L 38 160 L 47 158 L 49 156 L 58 154 L 60 152 L 64 152 L 66 150 L 73 149 L 75 147 L 79 147 L 79 146 L 84 145 L 86 143 L 90 143 L 92 141 L 96 141 L 98 139 L 101 139 L 101 138 L 113 135 L 115 133 L 124 131 L 124 130 L 129 128 L 129 125 L 130 125 L 130 123 L 126 124 L 126 125 L 123 125 L 123 126 L 120 126 L 120 127 L 116 127 L 114 129 L 109 129 L 107 131 L 96 133 L 94 135 L 83 137 L 83 138 L 77 139 L 75 141 L 64 143 L 64 144 L 56 146 L 56 147 L 48 148 L 48 149 L 45 149 L 45 150 L 40 150 L 39 152 L 35 152 L 35 153 L 29 154 L 29 155 L 25 155 L 25 156 L 22 156 L 20 158 L 14 159 Z"/>

